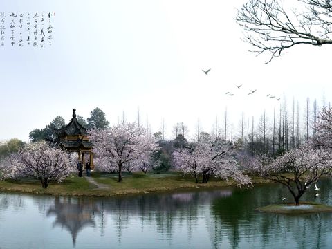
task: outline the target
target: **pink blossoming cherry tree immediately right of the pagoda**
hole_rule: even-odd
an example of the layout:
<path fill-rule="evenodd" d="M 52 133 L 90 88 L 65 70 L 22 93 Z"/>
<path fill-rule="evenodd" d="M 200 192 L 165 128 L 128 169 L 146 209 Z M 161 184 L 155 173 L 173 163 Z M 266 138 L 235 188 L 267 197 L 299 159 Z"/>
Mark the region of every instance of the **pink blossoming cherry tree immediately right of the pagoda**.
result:
<path fill-rule="evenodd" d="M 136 123 L 122 123 L 109 129 L 90 131 L 95 153 L 111 164 L 118 165 L 118 182 L 127 163 L 134 163 L 158 149 L 151 135 Z"/>

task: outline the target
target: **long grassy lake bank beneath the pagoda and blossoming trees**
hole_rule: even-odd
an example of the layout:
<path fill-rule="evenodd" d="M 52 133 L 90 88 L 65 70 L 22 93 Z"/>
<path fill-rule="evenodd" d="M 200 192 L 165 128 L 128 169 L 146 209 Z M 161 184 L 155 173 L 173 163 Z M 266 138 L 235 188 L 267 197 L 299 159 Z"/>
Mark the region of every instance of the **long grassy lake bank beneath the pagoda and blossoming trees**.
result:
<path fill-rule="evenodd" d="M 122 183 L 118 183 L 117 175 L 113 174 L 93 172 L 92 178 L 97 184 L 100 183 L 106 187 L 100 188 L 89 183 L 85 177 L 80 178 L 75 175 L 66 178 L 62 183 L 51 182 L 47 189 L 43 189 L 40 181 L 33 178 L 21 178 L 18 181 L 5 180 L 0 181 L 0 190 L 64 196 L 115 196 L 236 185 L 232 180 L 221 181 L 218 179 L 212 179 L 206 184 L 196 184 L 194 178 L 177 173 L 124 174 Z M 266 183 L 261 178 L 253 178 L 252 181 L 253 183 Z"/>

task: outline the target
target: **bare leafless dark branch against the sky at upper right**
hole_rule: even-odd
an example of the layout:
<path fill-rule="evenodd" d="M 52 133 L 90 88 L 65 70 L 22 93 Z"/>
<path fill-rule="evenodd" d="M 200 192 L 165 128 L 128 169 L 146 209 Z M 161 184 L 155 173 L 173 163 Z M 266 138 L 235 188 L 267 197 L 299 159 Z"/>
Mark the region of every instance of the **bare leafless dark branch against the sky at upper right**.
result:
<path fill-rule="evenodd" d="M 252 52 L 270 59 L 298 44 L 332 44 L 331 0 L 299 0 L 301 10 L 285 10 L 278 0 L 249 0 L 235 20 L 245 31 Z M 268 63 L 266 62 L 266 63 Z"/>

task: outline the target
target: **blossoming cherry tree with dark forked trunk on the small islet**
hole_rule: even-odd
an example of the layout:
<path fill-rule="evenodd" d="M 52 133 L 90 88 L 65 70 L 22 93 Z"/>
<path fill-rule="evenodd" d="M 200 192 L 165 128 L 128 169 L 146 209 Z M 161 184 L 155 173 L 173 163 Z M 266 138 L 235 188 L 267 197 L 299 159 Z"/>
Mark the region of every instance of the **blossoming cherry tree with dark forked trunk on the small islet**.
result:
<path fill-rule="evenodd" d="M 294 197 L 295 205 L 311 183 L 332 174 L 332 156 L 328 149 L 313 149 L 303 145 L 287 151 L 270 163 L 259 163 L 260 176 L 285 185 Z"/>

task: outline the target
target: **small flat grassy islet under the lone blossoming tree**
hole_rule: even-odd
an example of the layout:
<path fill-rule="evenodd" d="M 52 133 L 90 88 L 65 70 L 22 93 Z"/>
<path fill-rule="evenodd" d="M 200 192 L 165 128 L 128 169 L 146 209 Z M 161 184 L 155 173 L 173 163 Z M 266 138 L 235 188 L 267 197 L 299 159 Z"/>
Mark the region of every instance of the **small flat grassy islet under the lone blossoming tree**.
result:
<path fill-rule="evenodd" d="M 273 214 L 309 214 L 317 212 L 332 212 L 332 206 L 309 201 L 294 203 L 275 203 L 262 208 L 255 209 L 258 212 L 268 212 Z"/>

